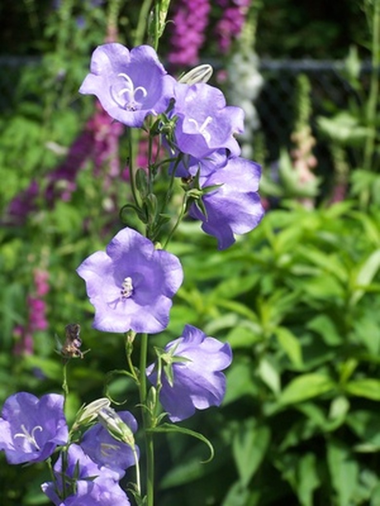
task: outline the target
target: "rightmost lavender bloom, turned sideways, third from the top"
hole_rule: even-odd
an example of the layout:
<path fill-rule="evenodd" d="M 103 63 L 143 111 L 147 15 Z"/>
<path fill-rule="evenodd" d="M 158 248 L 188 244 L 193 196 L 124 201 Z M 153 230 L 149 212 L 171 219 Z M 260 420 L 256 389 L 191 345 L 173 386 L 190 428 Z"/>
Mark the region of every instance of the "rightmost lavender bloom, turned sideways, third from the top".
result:
<path fill-rule="evenodd" d="M 218 240 L 218 249 L 235 242 L 234 234 L 245 234 L 255 228 L 264 210 L 257 193 L 261 168 L 245 158 L 231 158 L 221 168 L 200 178 L 202 188 L 220 185 L 203 195 L 207 216 L 193 204 L 189 214 L 203 222 L 202 229 Z"/>

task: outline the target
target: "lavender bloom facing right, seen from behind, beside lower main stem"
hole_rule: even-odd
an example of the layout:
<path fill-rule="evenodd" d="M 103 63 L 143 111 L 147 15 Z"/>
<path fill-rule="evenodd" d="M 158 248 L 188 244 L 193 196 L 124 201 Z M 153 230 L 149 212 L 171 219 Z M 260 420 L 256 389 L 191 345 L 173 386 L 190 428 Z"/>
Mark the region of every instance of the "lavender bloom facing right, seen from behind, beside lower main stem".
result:
<path fill-rule="evenodd" d="M 192 416 L 196 409 L 219 406 L 225 394 L 223 369 L 232 360 L 228 343 L 207 337 L 202 330 L 185 325 L 182 336 L 165 348 L 165 360 L 171 363 L 172 379 L 162 374 L 160 402 L 171 421 Z M 181 358 L 183 360 L 181 360 Z M 147 376 L 157 381 L 157 369 L 151 364 Z"/>

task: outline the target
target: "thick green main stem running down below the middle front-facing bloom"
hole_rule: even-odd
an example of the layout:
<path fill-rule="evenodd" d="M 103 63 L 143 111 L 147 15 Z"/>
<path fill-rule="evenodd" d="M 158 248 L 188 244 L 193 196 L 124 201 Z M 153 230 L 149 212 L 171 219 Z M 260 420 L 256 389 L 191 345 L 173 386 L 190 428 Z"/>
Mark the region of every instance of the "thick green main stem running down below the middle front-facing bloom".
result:
<path fill-rule="evenodd" d="M 148 431 L 151 426 L 151 416 L 146 408 L 146 358 L 148 351 L 148 334 L 141 334 L 140 349 L 140 403 L 142 406 L 142 423 L 144 429 L 146 451 L 146 506 L 154 506 L 154 477 L 155 477 L 155 451 L 153 434 Z"/>

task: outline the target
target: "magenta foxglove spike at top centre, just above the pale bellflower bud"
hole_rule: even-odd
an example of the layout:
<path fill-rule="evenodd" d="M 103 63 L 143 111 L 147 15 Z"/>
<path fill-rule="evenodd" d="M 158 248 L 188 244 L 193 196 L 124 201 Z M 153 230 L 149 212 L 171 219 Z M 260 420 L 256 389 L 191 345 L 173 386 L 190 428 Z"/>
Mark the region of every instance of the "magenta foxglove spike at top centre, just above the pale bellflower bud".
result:
<path fill-rule="evenodd" d="M 174 5 L 168 61 L 175 66 L 195 65 L 205 40 L 210 0 L 179 0 Z"/>

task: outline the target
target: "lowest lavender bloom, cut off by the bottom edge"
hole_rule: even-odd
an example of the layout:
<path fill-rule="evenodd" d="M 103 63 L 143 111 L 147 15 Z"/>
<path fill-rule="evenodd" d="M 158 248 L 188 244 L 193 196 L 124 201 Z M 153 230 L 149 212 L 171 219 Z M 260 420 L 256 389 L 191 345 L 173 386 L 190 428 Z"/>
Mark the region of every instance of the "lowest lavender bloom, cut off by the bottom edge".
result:
<path fill-rule="evenodd" d="M 55 483 L 45 482 L 41 486 L 43 492 L 56 506 L 70 504 L 130 506 L 128 497 L 119 485 L 120 475 L 111 469 L 97 465 L 79 445 L 71 444 L 67 451 L 67 458 L 63 460 L 66 462 L 63 473 L 62 458 L 58 458 L 55 463 Z M 63 486 L 65 486 L 64 493 Z M 64 500 L 61 499 L 62 495 L 66 497 Z"/>

